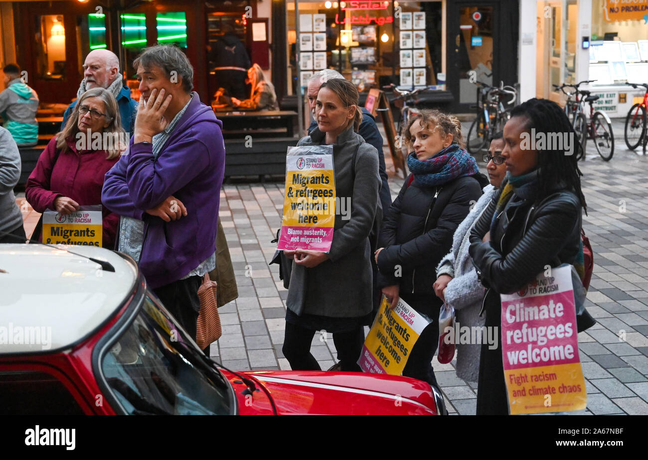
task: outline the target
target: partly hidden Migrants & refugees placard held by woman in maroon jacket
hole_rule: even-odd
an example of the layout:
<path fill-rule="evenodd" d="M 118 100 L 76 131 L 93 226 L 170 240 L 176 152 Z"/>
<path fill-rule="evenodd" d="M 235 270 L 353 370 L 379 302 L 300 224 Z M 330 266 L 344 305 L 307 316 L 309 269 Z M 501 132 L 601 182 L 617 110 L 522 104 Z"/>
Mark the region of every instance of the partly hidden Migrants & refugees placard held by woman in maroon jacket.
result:
<path fill-rule="evenodd" d="M 43 243 L 51 245 L 101 246 L 101 206 L 81 206 L 71 214 L 43 213 Z"/>

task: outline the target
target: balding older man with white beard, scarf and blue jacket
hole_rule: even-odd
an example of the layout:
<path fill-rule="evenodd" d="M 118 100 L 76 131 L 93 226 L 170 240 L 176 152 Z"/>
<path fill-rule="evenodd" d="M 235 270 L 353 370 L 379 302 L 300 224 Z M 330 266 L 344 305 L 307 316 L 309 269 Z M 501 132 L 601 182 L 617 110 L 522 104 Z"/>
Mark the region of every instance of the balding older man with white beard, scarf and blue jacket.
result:
<path fill-rule="evenodd" d="M 130 88 L 122 83 L 122 76 L 119 72 L 119 58 L 117 58 L 117 55 L 106 49 L 92 50 L 86 56 L 83 69 L 84 79 L 81 80 L 79 89 L 76 92 L 76 99 L 78 100 L 89 89 L 96 87 L 108 89 L 117 100 L 121 125 L 124 131 L 130 136 L 135 126 L 137 101 L 131 99 Z M 61 129 L 65 126 L 67 118 L 72 114 L 75 105 L 76 100 L 65 110 Z"/>

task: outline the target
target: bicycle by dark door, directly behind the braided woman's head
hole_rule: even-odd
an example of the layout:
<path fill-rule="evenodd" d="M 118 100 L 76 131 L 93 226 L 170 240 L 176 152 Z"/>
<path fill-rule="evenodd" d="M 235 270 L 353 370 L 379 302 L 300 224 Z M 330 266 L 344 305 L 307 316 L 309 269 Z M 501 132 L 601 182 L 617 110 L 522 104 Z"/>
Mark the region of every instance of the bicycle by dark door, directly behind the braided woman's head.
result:
<path fill-rule="evenodd" d="M 466 149 L 469 153 L 476 155 L 484 148 L 486 142 L 499 131 L 511 118 L 511 108 L 505 108 L 504 104 L 511 105 L 517 98 L 518 93 L 512 86 L 500 87 L 477 83 L 477 117 L 474 119 L 468 130 Z M 511 100 L 504 103 L 506 96 L 513 96 Z"/>

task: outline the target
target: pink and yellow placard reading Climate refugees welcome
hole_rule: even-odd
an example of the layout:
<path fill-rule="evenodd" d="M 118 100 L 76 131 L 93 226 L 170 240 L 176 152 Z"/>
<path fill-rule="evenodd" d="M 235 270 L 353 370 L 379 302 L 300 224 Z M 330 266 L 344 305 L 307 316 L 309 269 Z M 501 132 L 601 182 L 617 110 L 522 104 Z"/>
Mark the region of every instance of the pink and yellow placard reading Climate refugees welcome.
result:
<path fill-rule="evenodd" d="M 572 269 L 551 268 L 515 294 L 502 294 L 502 358 L 509 412 L 583 410 Z"/>

